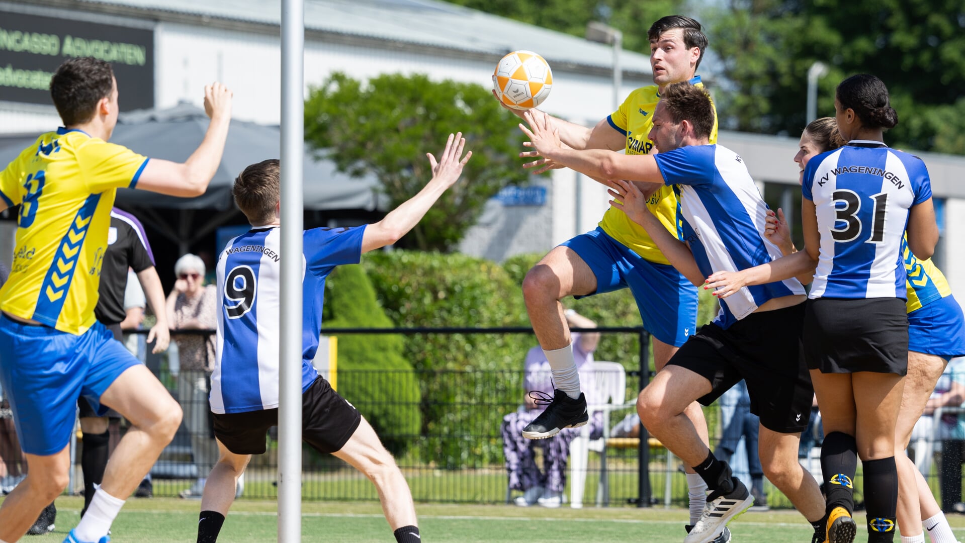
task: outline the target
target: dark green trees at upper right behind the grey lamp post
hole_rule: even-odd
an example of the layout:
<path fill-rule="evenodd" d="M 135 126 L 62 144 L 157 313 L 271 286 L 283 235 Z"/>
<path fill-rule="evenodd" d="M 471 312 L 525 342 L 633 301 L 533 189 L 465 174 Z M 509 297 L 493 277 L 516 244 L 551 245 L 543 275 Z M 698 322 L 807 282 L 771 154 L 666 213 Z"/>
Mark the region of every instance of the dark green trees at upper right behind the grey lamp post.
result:
<path fill-rule="evenodd" d="M 731 0 L 713 13 L 710 45 L 732 90 L 722 125 L 768 133 L 804 127 L 807 71 L 819 84 L 818 116 L 834 114 L 834 89 L 855 73 L 880 77 L 898 112 L 896 147 L 965 153 L 965 4 L 960 0 Z"/>

